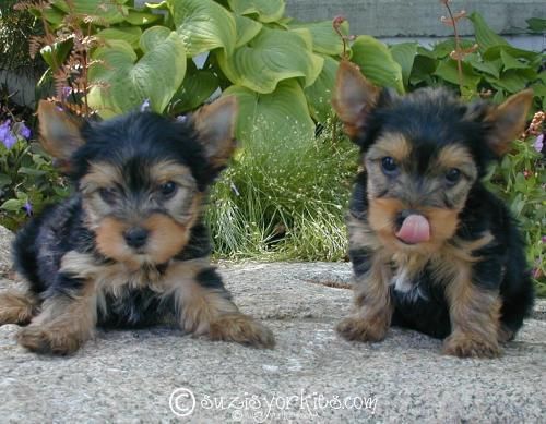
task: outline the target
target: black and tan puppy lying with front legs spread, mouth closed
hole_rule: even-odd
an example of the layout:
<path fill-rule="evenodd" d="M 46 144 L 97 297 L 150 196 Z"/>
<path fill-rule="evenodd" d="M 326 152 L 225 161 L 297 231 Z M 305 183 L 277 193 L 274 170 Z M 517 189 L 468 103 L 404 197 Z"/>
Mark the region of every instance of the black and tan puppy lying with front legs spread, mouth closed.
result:
<path fill-rule="evenodd" d="M 28 287 L 0 294 L 0 325 L 24 325 L 19 342 L 40 353 L 72 353 L 97 325 L 167 322 L 271 348 L 209 263 L 202 207 L 235 148 L 236 110 L 225 97 L 186 122 L 143 112 L 88 123 L 40 102 L 43 145 L 76 191 L 17 234 Z"/>

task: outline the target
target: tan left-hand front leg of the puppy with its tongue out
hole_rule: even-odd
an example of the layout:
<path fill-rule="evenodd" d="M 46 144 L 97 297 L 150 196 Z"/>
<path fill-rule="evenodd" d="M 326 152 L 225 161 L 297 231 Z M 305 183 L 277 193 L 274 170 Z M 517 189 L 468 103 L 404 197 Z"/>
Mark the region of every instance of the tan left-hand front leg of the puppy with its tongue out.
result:
<path fill-rule="evenodd" d="M 353 313 L 336 327 L 347 340 L 383 340 L 391 325 L 393 306 L 389 295 L 389 270 L 379 254 L 369 270 L 355 282 Z"/>

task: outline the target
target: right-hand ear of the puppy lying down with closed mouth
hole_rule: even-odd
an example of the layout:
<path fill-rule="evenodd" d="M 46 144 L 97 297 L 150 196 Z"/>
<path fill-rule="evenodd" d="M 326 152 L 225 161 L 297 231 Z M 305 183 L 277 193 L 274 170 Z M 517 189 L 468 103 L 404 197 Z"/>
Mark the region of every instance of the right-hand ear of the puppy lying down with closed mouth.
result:
<path fill-rule="evenodd" d="M 191 118 L 206 158 L 214 168 L 224 167 L 237 146 L 237 98 L 227 96 L 201 107 Z"/>

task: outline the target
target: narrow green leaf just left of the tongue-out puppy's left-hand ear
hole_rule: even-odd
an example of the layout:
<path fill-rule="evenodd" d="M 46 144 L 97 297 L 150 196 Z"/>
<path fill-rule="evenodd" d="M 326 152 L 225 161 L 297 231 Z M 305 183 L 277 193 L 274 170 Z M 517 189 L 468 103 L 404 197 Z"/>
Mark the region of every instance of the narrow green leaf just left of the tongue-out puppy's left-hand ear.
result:
<path fill-rule="evenodd" d="M 327 122 L 332 117 L 332 88 L 340 63 L 329 56 L 324 56 L 324 65 L 319 77 L 312 85 L 305 88 L 311 117 L 319 122 Z"/>

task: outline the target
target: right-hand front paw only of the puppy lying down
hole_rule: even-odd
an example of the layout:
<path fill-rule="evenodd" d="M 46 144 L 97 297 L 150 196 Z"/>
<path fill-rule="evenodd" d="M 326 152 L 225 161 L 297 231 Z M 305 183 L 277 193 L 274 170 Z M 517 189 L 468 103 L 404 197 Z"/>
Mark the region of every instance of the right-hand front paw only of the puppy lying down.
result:
<path fill-rule="evenodd" d="M 273 332 L 253 318 L 242 314 L 226 314 L 211 323 L 212 340 L 235 341 L 260 349 L 275 346 Z"/>

